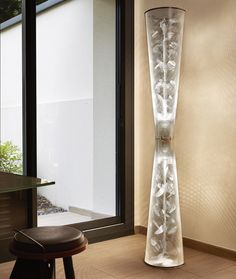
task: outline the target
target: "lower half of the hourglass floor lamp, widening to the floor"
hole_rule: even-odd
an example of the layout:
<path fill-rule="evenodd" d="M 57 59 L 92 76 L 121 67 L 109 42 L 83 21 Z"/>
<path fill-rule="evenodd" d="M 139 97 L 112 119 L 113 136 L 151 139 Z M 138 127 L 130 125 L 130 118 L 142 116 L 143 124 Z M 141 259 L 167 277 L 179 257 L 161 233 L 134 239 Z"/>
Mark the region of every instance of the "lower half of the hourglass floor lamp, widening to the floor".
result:
<path fill-rule="evenodd" d="M 145 262 L 161 267 L 184 263 L 176 161 L 170 141 L 156 141 Z"/>

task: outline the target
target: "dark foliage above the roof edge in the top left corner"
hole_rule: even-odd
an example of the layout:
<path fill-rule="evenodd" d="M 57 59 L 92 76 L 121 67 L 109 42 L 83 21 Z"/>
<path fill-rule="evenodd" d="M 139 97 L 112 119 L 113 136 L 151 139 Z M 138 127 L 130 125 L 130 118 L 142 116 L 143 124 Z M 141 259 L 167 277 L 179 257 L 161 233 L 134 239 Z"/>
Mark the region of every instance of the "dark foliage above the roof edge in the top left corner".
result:
<path fill-rule="evenodd" d="M 36 4 L 41 4 L 47 0 L 36 0 Z M 0 0 L 0 23 L 17 16 L 21 13 L 22 0 Z"/>

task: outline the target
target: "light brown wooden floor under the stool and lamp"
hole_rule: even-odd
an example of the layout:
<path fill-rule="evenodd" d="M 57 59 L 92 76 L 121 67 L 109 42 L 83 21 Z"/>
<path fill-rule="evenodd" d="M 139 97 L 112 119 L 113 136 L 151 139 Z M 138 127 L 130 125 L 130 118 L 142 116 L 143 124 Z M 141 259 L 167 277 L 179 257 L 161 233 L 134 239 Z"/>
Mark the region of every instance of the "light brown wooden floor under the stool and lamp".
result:
<path fill-rule="evenodd" d="M 78 279 L 236 279 L 236 262 L 185 248 L 185 264 L 179 268 L 154 268 L 143 262 L 145 236 L 134 235 L 91 244 L 73 257 Z M 64 277 L 62 261 L 57 279 Z M 0 278 L 8 279 L 13 262 L 0 265 Z M 22 278 L 23 279 L 23 278 Z"/>

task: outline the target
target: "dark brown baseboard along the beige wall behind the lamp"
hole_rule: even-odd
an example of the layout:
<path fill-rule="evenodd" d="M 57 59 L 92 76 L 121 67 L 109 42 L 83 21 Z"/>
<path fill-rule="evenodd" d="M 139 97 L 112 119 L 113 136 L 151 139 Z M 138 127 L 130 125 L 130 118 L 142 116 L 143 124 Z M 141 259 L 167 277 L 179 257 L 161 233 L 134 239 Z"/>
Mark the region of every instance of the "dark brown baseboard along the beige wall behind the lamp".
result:
<path fill-rule="evenodd" d="M 135 226 L 135 234 L 147 235 L 147 228 L 144 226 Z M 183 238 L 183 243 L 185 247 L 236 261 L 236 251 L 214 246 L 187 237 Z"/>

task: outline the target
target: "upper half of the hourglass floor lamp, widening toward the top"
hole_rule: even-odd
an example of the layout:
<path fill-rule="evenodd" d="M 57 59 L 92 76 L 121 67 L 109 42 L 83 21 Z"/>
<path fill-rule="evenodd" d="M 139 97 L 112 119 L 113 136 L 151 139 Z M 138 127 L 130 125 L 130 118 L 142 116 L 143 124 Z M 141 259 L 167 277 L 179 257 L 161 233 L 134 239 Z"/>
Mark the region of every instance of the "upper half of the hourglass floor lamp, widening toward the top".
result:
<path fill-rule="evenodd" d="M 179 8 L 145 13 L 156 138 L 173 138 L 184 14 Z"/>

